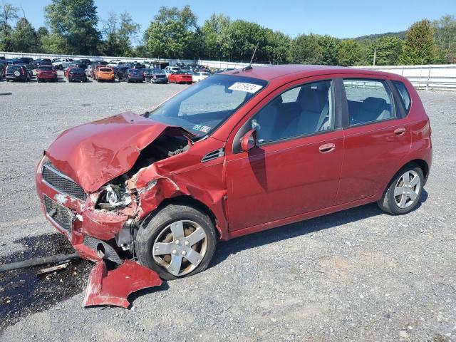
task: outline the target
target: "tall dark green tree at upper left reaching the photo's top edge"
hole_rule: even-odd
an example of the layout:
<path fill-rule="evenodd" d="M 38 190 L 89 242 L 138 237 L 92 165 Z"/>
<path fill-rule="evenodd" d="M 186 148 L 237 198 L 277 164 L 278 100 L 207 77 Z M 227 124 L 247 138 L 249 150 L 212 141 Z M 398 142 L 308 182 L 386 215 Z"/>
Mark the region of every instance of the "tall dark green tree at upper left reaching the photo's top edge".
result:
<path fill-rule="evenodd" d="M 45 7 L 51 28 L 46 46 L 56 53 L 95 54 L 100 43 L 97 7 L 93 0 L 52 0 Z M 50 41 L 53 38 L 56 41 Z"/>

